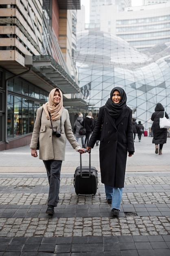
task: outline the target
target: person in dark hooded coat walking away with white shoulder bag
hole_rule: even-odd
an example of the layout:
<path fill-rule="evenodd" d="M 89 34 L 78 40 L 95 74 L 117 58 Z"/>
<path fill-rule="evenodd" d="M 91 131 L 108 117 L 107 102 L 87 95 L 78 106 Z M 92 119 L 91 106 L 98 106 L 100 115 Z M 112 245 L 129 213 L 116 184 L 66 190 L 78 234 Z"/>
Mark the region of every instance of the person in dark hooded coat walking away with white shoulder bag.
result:
<path fill-rule="evenodd" d="M 152 143 L 155 144 L 155 154 L 158 153 L 159 149 L 159 155 L 162 155 L 162 148 L 163 144 L 166 143 L 167 139 L 167 129 L 166 128 L 160 128 L 159 127 L 159 118 L 163 117 L 164 115 L 164 108 L 161 103 L 157 103 L 157 106 L 155 107 L 155 112 L 152 114 L 151 120 L 153 121 L 153 141 Z M 165 112 L 166 118 L 168 117 L 168 114 Z M 158 146 L 159 145 L 159 146 Z"/>

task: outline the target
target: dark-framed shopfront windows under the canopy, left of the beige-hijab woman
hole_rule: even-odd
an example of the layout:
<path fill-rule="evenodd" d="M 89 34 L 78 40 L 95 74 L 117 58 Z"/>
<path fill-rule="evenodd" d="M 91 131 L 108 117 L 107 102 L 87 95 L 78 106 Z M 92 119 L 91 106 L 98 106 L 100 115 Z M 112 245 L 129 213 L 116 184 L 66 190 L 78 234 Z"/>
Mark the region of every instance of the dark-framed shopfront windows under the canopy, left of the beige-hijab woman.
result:
<path fill-rule="evenodd" d="M 7 139 L 33 132 L 36 111 L 48 101 L 48 92 L 21 79 L 8 82 Z"/>

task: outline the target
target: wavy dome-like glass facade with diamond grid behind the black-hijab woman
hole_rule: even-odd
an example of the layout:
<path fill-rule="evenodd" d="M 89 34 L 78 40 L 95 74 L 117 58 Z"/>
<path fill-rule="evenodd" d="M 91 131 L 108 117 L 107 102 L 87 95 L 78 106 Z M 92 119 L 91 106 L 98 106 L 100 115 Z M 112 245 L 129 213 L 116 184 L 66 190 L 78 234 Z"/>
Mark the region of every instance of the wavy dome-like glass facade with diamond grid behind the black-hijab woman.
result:
<path fill-rule="evenodd" d="M 133 117 L 148 129 L 161 102 L 170 116 L 170 43 L 139 52 L 125 40 L 102 31 L 77 34 L 78 80 L 92 111 L 105 105 L 111 89 L 122 87 Z"/>

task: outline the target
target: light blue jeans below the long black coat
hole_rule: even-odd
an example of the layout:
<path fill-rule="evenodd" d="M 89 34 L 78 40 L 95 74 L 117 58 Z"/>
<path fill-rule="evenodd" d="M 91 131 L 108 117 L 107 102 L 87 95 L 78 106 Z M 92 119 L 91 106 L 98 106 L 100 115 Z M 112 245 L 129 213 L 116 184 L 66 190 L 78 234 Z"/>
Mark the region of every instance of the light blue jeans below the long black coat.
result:
<path fill-rule="evenodd" d="M 111 209 L 115 208 L 120 210 L 120 203 L 122 200 L 122 188 L 116 188 L 112 186 L 105 185 L 106 199 L 112 199 Z"/>

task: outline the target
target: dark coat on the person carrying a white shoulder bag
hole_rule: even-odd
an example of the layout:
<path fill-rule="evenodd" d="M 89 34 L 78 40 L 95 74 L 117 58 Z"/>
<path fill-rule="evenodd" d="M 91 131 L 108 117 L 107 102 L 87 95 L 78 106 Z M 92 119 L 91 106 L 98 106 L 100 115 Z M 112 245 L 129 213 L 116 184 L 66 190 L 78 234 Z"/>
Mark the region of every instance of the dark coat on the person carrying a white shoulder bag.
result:
<path fill-rule="evenodd" d="M 164 108 L 163 108 L 164 109 Z M 153 121 L 152 129 L 153 129 L 153 141 L 154 144 L 165 144 L 167 139 L 167 129 L 159 127 L 159 118 L 163 117 L 164 111 L 157 110 L 152 114 L 151 120 Z M 168 114 L 165 112 L 166 118 Z"/>

